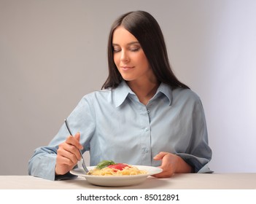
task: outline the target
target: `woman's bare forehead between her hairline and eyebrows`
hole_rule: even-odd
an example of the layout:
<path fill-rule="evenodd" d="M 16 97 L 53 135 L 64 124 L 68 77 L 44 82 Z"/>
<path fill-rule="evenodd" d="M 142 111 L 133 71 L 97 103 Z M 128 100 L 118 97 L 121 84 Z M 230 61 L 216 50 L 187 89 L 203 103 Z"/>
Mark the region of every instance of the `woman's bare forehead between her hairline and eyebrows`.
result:
<path fill-rule="evenodd" d="M 138 42 L 135 36 L 127 31 L 123 26 L 115 29 L 112 36 L 112 44 L 129 44 L 131 42 Z"/>

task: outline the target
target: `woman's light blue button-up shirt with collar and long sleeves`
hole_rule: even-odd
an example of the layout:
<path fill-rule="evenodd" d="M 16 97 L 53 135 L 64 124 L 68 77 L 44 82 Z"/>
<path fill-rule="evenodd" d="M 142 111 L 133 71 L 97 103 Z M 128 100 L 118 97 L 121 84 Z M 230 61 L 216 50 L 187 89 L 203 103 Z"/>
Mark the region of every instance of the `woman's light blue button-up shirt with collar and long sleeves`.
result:
<path fill-rule="evenodd" d="M 159 166 L 153 160 L 159 152 L 182 157 L 197 173 L 211 173 L 208 163 L 206 119 L 198 95 L 192 90 L 160 84 L 145 106 L 122 82 L 115 89 L 85 95 L 68 117 L 73 133 L 81 133 L 83 152 L 90 151 L 90 165 L 102 160 L 131 165 Z M 35 150 L 28 173 L 55 180 L 58 144 L 69 136 L 63 124 L 48 146 Z M 71 178 L 67 173 L 59 178 Z"/>

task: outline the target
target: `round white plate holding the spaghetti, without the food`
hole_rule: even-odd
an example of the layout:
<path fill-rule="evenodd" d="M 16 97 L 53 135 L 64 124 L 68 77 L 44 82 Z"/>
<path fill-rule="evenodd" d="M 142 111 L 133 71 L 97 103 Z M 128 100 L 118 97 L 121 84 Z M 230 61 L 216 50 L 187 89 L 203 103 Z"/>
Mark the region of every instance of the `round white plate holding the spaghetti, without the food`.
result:
<path fill-rule="evenodd" d="M 70 173 L 76 176 L 84 176 L 90 184 L 104 187 L 123 187 L 140 184 L 145 181 L 147 176 L 152 176 L 156 173 L 161 173 L 161 168 L 144 166 L 144 165 L 133 165 L 139 170 L 147 170 L 147 174 L 133 175 L 133 176 L 90 176 L 85 174 L 85 170 L 82 168 L 74 168 Z M 92 170 L 96 166 L 89 166 L 88 170 Z"/>

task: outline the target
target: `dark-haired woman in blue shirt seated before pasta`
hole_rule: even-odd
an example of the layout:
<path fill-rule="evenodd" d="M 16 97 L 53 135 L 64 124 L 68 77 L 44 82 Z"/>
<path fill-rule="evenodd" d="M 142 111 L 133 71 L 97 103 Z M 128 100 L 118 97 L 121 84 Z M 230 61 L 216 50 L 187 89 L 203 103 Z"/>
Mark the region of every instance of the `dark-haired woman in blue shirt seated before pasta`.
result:
<path fill-rule="evenodd" d="M 29 161 L 30 175 L 72 178 L 82 152 L 90 165 L 114 160 L 174 173 L 209 173 L 212 150 L 198 95 L 179 82 L 168 62 L 157 21 L 128 12 L 113 23 L 108 43 L 109 76 L 102 90 L 85 95 L 48 146 Z"/>

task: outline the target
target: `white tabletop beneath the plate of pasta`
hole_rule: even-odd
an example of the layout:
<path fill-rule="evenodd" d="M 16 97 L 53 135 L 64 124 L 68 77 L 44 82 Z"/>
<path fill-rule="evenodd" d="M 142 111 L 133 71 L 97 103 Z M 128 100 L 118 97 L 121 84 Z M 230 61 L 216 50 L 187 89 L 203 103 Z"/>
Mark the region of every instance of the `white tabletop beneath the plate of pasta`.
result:
<path fill-rule="evenodd" d="M 185 173 L 171 178 L 148 177 L 130 187 L 98 187 L 83 177 L 48 181 L 34 176 L 0 176 L 0 189 L 256 189 L 256 173 Z"/>

